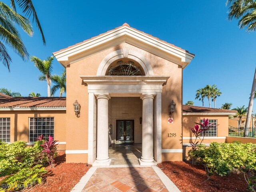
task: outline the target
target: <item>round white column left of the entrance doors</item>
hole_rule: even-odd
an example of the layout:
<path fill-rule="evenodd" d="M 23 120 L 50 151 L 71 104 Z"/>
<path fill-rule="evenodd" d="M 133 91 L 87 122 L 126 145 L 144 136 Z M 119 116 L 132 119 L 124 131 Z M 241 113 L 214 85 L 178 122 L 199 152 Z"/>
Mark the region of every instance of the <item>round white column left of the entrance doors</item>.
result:
<path fill-rule="evenodd" d="M 100 94 L 97 96 L 97 157 L 93 166 L 110 165 L 108 157 L 108 100 L 110 96 Z"/>

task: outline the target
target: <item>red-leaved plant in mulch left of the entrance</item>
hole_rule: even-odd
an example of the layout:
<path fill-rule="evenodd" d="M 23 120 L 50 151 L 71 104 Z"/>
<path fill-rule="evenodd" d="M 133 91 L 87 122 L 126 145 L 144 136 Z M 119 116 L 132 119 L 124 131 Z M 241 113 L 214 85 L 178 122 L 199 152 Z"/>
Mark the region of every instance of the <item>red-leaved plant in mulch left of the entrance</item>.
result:
<path fill-rule="evenodd" d="M 44 141 L 44 144 L 41 146 L 44 148 L 42 152 L 46 153 L 46 156 L 48 157 L 48 163 L 50 165 L 50 168 L 54 167 L 54 155 L 57 152 L 57 140 L 53 140 L 52 136 L 49 136 L 48 141 Z"/>

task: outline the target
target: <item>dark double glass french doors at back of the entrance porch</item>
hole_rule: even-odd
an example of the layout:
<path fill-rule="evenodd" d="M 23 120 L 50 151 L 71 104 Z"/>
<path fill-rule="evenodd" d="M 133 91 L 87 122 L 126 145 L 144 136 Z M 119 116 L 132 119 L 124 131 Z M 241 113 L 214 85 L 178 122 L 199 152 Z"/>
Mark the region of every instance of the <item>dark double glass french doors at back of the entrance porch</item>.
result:
<path fill-rule="evenodd" d="M 116 120 L 116 143 L 134 143 L 134 120 Z"/>

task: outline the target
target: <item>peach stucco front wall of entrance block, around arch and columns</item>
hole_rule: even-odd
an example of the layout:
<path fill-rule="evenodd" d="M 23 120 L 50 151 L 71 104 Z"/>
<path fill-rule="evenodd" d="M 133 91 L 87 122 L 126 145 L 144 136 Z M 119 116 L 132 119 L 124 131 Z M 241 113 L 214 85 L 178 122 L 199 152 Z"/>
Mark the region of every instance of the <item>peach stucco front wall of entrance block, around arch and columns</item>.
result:
<path fill-rule="evenodd" d="M 182 67 L 136 46 L 122 43 L 86 58 L 81 58 L 66 68 L 67 134 L 72 133 L 67 137 L 67 150 L 88 150 L 88 91 L 80 76 L 95 76 L 104 57 L 121 48 L 134 50 L 147 58 L 155 76 L 170 76 L 162 92 L 162 148 L 182 149 L 182 143 L 180 142 L 182 134 Z M 76 58 L 79 58 L 79 56 L 76 56 Z M 72 104 L 75 100 L 78 100 L 81 104 L 79 118 L 74 115 Z M 174 123 L 168 124 L 168 106 L 171 100 L 176 102 L 176 112 L 174 113 Z M 168 138 L 167 135 L 170 132 L 176 133 L 176 137 Z M 73 162 L 74 160 L 77 162 L 76 156 L 77 154 L 67 154 L 67 162 Z M 86 156 L 80 162 L 87 162 L 85 158 Z M 182 153 L 165 154 L 163 160 L 182 160 Z"/>

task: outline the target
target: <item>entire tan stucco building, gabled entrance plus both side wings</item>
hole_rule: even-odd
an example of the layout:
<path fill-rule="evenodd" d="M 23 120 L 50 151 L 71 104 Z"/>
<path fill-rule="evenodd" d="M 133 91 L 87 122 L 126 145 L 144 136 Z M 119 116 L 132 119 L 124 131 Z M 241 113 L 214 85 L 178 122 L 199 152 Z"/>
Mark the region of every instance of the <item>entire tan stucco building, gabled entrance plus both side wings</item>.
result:
<path fill-rule="evenodd" d="M 182 74 L 194 54 L 128 24 L 53 54 L 66 68 L 66 99 L 0 98 L 0 122 L 10 127 L 9 142 L 32 144 L 41 133 L 54 133 L 66 162 L 99 166 L 111 163 L 111 144 L 141 144 L 140 164 L 154 165 L 182 160 L 182 143 L 192 137 L 184 126 L 202 117 L 228 126 L 226 114 L 182 119 Z M 218 137 L 228 136 L 228 127 L 220 130 Z"/>

